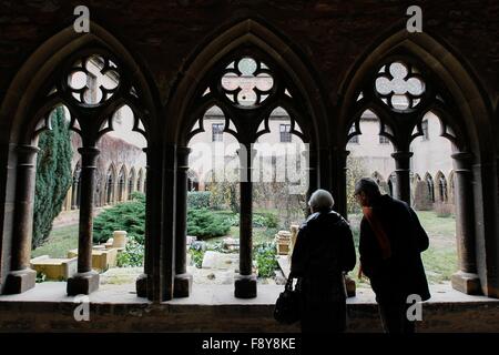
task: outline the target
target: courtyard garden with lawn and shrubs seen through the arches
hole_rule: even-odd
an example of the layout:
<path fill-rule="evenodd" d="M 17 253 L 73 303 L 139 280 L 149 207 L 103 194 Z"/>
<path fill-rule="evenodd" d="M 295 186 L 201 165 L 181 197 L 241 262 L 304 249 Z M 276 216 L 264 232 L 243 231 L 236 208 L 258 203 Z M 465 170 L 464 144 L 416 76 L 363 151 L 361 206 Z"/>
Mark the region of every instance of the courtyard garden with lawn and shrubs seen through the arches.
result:
<path fill-rule="evenodd" d="M 238 214 L 228 207 L 213 207 L 208 192 L 190 193 L 187 213 L 189 270 L 194 277 L 205 278 L 200 282 L 215 282 L 220 275 L 215 268 L 223 271 L 225 282 L 232 282 L 237 272 L 238 258 Z M 109 283 L 133 282 L 142 272 L 144 257 L 145 196 L 134 194 L 133 199 L 110 207 L 94 221 L 94 244 L 103 244 L 113 231 L 126 231 L 128 243 L 118 254 L 115 266 L 120 270 L 105 271 L 111 275 Z M 283 274 L 277 263 L 275 235 L 279 230 L 289 230 L 284 224 L 283 211 L 278 209 L 255 209 L 253 217 L 253 263 L 259 282 L 282 283 Z M 434 211 L 417 212 L 422 226 L 430 237 L 430 247 L 422 254 L 428 281 L 444 283 L 457 271 L 457 251 L 455 242 L 456 221 L 454 215 L 444 215 Z M 299 215 L 294 216 L 299 223 Z M 361 215 L 349 214 L 356 246 L 358 246 L 359 222 Z M 32 257 L 50 255 L 67 257 L 68 251 L 78 247 L 78 224 L 54 227 L 50 237 L 32 251 Z M 214 261 L 214 257 L 221 261 Z M 214 266 L 214 265 L 218 266 Z M 223 264 L 220 267 L 220 264 Z M 230 264 L 230 265 L 227 265 Z M 368 286 L 368 281 L 357 278 L 358 263 L 350 277 L 358 287 Z M 128 276 L 129 275 L 129 276 Z M 41 278 L 42 280 L 42 278 Z M 104 277 L 104 280 L 106 280 Z M 217 280 L 217 282 L 222 282 Z"/>

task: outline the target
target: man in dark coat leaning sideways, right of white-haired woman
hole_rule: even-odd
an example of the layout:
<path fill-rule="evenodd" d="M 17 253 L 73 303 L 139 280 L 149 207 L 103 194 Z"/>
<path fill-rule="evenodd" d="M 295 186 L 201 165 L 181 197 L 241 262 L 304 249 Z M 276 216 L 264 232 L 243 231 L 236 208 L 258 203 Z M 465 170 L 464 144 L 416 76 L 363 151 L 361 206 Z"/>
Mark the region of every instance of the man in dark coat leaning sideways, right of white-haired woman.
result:
<path fill-rule="evenodd" d="M 417 295 L 421 301 L 430 297 L 420 256 L 428 248 L 428 235 L 414 210 L 381 195 L 373 179 L 360 179 L 355 196 L 364 214 L 359 274 L 369 277 L 385 332 L 414 333 L 415 323 L 407 316 L 414 303 L 408 303 L 408 296 Z"/>

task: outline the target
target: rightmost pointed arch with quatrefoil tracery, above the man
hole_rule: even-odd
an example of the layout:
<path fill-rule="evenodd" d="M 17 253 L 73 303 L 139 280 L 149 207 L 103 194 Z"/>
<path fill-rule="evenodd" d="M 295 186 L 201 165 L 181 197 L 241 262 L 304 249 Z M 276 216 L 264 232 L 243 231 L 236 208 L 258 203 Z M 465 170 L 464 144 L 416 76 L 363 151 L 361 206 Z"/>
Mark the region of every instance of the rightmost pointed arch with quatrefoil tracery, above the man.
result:
<path fill-rule="evenodd" d="M 395 70 L 394 64 L 403 69 Z M 407 85 L 404 90 L 378 89 L 377 80 L 385 83 L 405 81 L 407 84 L 409 80 L 419 81 L 419 90 L 411 92 L 415 88 L 407 89 Z M 409 33 L 399 27 L 381 36 L 359 57 L 345 75 L 338 95 L 336 140 L 340 146 L 346 145 L 358 112 L 374 109 L 380 120 L 391 123 L 397 197 L 406 202 L 410 202 L 410 156 L 414 154 L 409 151 L 410 142 L 422 134 L 421 120 L 427 112 L 439 118 L 440 135 L 457 148 L 452 159 L 460 166 L 457 171 L 462 179 L 456 180 L 461 184 L 456 191 L 465 191 L 457 194 L 456 202 L 458 230 L 462 232 L 458 240 L 464 244 L 460 264 L 468 273 L 477 275 L 473 287 L 497 296 L 498 209 L 487 207 L 499 205 L 497 161 L 490 154 L 497 150 L 496 125 L 490 97 L 466 60 L 431 33 Z M 393 101 L 395 95 L 406 97 L 403 106 Z M 478 182 L 476 189 L 471 187 L 471 180 Z M 482 227 L 475 229 L 475 225 Z M 459 277 L 457 275 L 456 280 Z M 480 286 L 476 286 L 478 277 Z M 458 284 L 454 283 L 459 288 Z"/>

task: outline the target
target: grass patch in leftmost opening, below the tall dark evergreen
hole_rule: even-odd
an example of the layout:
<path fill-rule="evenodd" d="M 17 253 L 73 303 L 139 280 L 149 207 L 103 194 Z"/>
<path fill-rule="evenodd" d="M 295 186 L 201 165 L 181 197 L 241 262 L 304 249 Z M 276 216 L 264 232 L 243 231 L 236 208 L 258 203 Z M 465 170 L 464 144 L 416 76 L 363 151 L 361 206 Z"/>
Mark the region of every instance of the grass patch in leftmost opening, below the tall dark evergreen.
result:
<path fill-rule="evenodd" d="M 31 257 L 49 255 L 50 257 L 67 257 L 68 251 L 78 247 L 78 224 L 52 230 L 43 245 L 31 252 Z"/>

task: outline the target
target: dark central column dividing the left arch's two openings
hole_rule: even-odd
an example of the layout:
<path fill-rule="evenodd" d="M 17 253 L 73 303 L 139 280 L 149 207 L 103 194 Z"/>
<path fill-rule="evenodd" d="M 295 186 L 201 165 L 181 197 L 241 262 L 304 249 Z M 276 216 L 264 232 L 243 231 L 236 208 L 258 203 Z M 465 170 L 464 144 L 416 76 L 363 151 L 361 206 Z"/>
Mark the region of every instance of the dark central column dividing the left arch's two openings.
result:
<path fill-rule="evenodd" d="M 99 150 L 83 146 L 78 151 L 81 154 L 78 273 L 68 280 L 68 295 L 70 296 L 88 295 L 99 288 L 99 274 L 92 271 L 93 192 Z"/>

